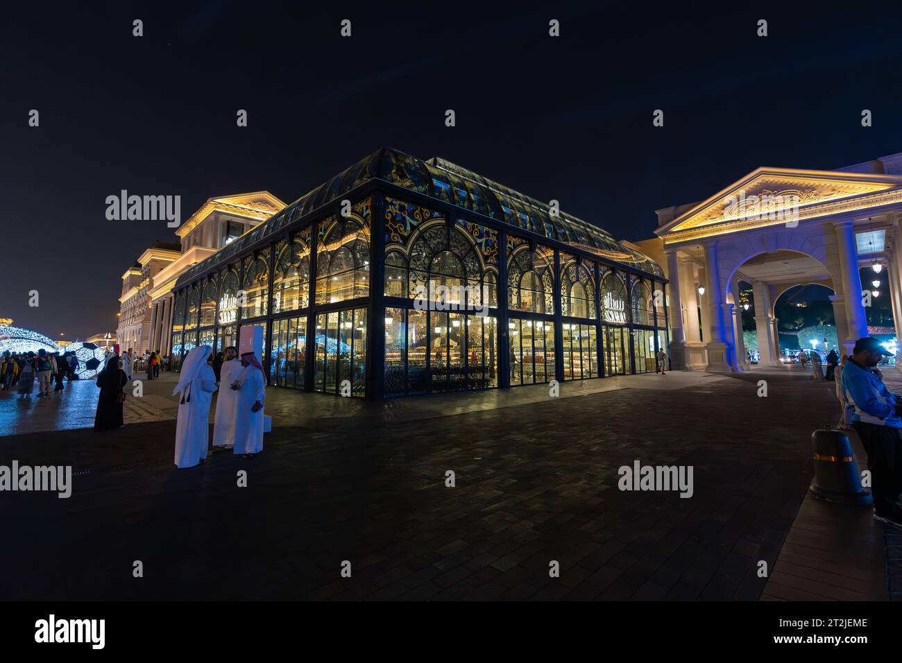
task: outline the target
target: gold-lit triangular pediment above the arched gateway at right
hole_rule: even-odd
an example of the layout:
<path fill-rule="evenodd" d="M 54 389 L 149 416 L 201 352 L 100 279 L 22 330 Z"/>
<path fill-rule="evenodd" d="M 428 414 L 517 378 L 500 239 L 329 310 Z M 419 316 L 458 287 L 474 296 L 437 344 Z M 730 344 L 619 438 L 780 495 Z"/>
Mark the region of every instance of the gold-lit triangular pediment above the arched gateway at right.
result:
<path fill-rule="evenodd" d="M 893 193 L 884 200 L 881 194 Z M 876 198 L 875 198 L 876 197 Z M 759 168 L 660 226 L 665 242 L 786 224 L 902 199 L 902 176 Z M 861 203 L 856 206 L 855 202 Z"/>

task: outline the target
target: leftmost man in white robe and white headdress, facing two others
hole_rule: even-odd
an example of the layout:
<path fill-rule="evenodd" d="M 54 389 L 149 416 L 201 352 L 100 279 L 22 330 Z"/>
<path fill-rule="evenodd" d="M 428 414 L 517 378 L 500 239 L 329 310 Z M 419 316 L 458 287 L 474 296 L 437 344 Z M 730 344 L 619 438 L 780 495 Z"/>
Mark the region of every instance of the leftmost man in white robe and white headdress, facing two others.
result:
<path fill-rule="evenodd" d="M 179 383 L 172 395 L 179 396 L 179 421 L 175 428 L 175 464 L 194 467 L 207 460 L 210 401 L 216 391 L 216 374 L 207 364 L 213 351 L 209 345 L 198 345 L 181 365 Z"/>

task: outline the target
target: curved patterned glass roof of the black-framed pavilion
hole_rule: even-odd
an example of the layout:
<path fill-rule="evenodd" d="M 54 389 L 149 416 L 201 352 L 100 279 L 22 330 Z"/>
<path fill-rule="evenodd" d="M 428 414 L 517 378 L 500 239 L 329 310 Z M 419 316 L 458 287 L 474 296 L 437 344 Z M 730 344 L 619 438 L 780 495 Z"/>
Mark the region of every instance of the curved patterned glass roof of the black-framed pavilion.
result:
<path fill-rule="evenodd" d="M 207 260 L 198 262 L 179 277 L 176 286 L 193 281 L 198 275 L 222 263 L 232 262 L 244 249 L 262 238 L 306 216 L 318 207 L 339 198 L 367 180 L 384 180 L 431 198 L 478 212 L 565 244 L 603 256 L 614 262 L 663 277 L 664 272 L 644 253 L 619 244 L 606 230 L 582 219 L 558 213 L 551 216 L 547 203 L 529 198 L 519 191 L 483 178 L 472 170 L 433 157 L 421 161 L 410 154 L 382 148 L 357 161 L 317 189 L 298 198 L 253 230 L 237 238 Z"/>

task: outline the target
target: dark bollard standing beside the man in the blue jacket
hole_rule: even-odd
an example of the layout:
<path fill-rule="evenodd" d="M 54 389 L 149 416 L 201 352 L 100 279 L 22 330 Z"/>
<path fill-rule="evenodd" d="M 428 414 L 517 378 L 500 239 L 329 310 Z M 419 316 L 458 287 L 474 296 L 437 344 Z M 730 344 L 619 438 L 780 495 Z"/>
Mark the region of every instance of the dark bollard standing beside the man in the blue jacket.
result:
<path fill-rule="evenodd" d="M 811 434 L 815 447 L 815 480 L 809 490 L 815 497 L 840 504 L 873 504 L 870 491 L 861 487 L 861 473 L 849 437 L 830 425 Z"/>

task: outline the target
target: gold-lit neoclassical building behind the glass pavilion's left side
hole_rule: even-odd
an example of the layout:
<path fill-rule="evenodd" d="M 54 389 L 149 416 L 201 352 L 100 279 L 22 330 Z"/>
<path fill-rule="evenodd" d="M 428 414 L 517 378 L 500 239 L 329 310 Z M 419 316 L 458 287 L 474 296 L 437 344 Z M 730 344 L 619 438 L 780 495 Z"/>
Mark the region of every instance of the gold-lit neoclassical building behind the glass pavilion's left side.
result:
<path fill-rule="evenodd" d="M 157 242 L 123 274 L 116 329 L 120 347 L 135 352 L 170 347 L 172 286 L 190 267 L 203 262 L 237 237 L 258 226 L 285 203 L 268 191 L 208 198 L 176 230 L 179 242 Z"/>

